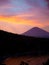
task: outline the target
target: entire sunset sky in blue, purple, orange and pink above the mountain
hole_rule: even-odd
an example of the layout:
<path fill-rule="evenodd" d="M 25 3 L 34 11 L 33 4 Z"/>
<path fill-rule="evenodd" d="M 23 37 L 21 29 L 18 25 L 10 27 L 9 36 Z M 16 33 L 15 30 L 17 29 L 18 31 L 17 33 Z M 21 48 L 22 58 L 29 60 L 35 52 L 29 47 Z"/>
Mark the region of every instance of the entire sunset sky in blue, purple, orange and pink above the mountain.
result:
<path fill-rule="evenodd" d="M 21 34 L 32 27 L 40 27 L 49 32 L 47 1 L 0 0 L 0 29 Z"/>

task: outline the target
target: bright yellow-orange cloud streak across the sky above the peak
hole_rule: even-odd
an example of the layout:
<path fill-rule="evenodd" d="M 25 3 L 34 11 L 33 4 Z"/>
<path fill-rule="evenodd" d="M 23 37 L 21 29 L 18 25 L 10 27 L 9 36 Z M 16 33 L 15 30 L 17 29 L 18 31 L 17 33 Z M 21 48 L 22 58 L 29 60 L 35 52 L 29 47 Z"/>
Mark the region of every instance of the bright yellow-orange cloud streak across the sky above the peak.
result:
<path fill-rule="evenodd" d="M 25 24 L 25 25 L 31 25 L 31 26 L 42 26 L 36 20 L 28 20 L 28 19 L 24 19 L 24 18 L 19 17 L 19 16 L 10 16 L 10 17 L 0 16 L 0 21 L 9 22 L 9 23 L 13 23 L 13 24 Z"/>

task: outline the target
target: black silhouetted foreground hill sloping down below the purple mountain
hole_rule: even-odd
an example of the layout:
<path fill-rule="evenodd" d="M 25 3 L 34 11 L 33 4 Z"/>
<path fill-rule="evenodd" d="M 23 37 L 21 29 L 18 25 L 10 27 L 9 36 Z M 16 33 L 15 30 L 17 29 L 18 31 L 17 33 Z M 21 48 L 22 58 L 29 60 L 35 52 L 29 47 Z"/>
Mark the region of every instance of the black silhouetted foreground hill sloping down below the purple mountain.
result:
<path fill-rule="evenodd" d="M 35 38 L 0 30 L 0 56 L 49 55 L 49 38 Z"/>

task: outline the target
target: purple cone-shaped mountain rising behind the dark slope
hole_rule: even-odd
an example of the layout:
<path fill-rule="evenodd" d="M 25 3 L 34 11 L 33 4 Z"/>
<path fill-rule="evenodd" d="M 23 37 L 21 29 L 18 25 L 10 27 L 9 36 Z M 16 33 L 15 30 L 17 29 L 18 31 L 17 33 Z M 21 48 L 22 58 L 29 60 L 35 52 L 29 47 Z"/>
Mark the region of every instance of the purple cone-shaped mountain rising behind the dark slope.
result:
<path fill-rule="evenodd" d="M 22 35 L 32 36 L 32 37 L 49 38 L 49 32 L 47 32 L 41 28 L 38 28 L 38 27 L 34 27 L 34 28 L 30 29 L 27 32 L 23 33 Z"/>

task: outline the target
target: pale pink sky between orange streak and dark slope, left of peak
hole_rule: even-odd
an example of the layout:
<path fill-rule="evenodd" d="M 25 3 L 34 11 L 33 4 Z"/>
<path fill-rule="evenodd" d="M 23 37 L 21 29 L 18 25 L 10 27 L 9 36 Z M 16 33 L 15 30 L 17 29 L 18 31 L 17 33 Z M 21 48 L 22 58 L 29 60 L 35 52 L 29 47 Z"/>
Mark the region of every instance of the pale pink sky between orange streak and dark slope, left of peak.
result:
<path fill-rule="evenodd" d="M 24 24 L 12 24 L 8 22 L 0 21 L 0 30 L 5 30 L 11 33 L 22 34 L 23 32 L 31 29 L 32 26 L 24 25 Z"/>

